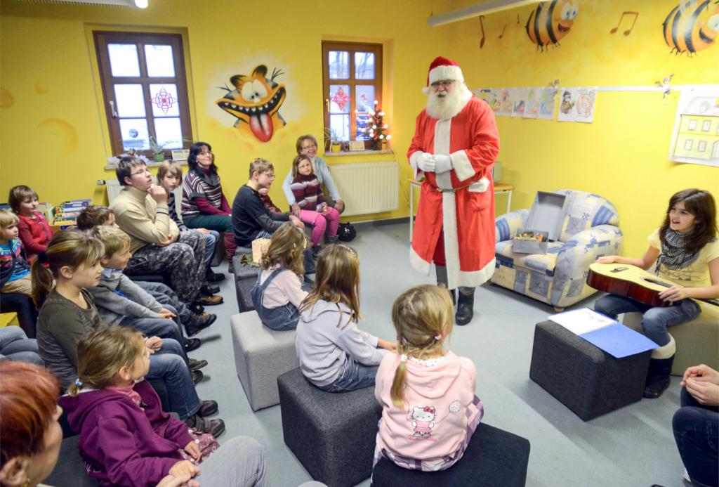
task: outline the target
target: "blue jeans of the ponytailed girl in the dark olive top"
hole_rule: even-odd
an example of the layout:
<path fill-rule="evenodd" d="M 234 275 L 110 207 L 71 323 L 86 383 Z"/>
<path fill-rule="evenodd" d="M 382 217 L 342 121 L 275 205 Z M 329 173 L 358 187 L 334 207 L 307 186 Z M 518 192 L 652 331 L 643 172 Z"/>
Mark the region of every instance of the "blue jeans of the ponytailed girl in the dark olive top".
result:
<path fill-rule="evenodd" d="M 200 409 L 200 398 L 195 391 L 190 369 L 183 361 L 182 345 L 175 340 L 162 340 L 162 348 L 150 355 L 150 372 L 147 378 L 162 379 L 168 388 L 170 411 L 185 421 Z"/>

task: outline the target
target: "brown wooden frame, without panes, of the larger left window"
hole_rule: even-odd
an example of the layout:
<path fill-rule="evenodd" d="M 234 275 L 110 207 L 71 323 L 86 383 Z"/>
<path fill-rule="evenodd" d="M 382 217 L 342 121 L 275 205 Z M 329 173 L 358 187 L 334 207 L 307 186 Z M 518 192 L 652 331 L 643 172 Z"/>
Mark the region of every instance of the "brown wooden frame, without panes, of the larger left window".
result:
<path fill-rule="evenodd" d="M 106 113 L 106 122 L 109 130 L 110 145 L 113 154 L 124 153 L 122 143 L 122 132 L 120 130 L 120 117 L 116 117 L 117 103 L 115 100 L 114 85 L 116 84 L 139 84 L 142 85 L 143 96 L 145 96 L 145 119 L 147 119 L 148 135 L 156 137 L 155 116 L 152 113 L 152 101 L 150 101 L 150 84 L 174 84 L 177 87 L 179 119 L 182 129 L 182 147 L 188 147 L 193 140 L 192 124 L 190 115 L 190 101 L 188 98 L 187 70 L 185 65 L 185 54 L 183 39 L 180 34 L 162 32 L 123 32 L 94 30 L 93 40 L 95 42 L 95 53 L 97 56 L 100 81 L 102 86 L 103 104 Z M 137 45 L 137 56 L 139 61 L 140 76 L 112 76 L 110 56 L 107 46 L 109 44 L 134 44 Z M 174 77 L 147 76 L 147 65 L 145 63 L 145 48 L 147 44 L 170 45 L 173 48 L 173 63 L 175 68 Z M 111 106 L 110 102 L 113 102 Z M 137 117 L 132 117 L 137 118 Z M 160 118 L 160 117 L 157 117 Z M 174 117 L 173 117 L 174 118 Z M 190 141 L 190 142 L 188 142 Z M 152 160 L 152 150 L 140 150 L 139 154 L 146 155 Z M 165 157 L 170 155 L 170 149 L 164 151 Z"/>

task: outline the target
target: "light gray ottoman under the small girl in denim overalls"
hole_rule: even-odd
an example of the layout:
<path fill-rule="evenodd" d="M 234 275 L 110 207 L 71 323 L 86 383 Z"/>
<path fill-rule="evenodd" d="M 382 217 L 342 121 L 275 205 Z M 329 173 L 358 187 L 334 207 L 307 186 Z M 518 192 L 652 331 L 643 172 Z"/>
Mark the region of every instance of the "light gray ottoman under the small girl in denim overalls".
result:
<path fill-rule="evenodd" d="M 234 314 L 230 319 L 237 377 L 252 411 L 280 402 L 277 378 L 299 365 L 295 330 L 275 332 L 260 322 L 255 311 Z"/>

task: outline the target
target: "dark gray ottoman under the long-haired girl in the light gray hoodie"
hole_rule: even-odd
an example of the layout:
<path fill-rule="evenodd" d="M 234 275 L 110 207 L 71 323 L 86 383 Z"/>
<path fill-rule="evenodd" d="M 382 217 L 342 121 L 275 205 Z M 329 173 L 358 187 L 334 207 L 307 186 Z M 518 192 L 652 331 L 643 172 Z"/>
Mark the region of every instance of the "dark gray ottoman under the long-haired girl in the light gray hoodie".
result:
<path fill-rule="evenodd" d="M 277 379 L 285 444 L 316 481 L 354 486 L 372 474 L 382 408 L 375 389 L 331 393 L 309 383 L 299 368 Z"/>

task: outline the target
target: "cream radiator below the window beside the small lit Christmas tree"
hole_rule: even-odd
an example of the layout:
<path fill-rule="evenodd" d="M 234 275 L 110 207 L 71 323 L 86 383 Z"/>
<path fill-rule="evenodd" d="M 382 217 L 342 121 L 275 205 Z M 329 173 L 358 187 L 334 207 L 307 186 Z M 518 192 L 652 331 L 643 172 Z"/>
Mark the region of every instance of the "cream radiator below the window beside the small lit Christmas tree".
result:
<path fill-rule="evenodd" d="M 334 164 L 329 172 L 344 201 L 343 217 L 398 209 L 400 168 L 396 161 Z"/>

